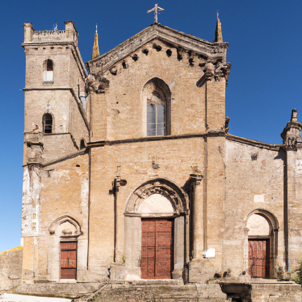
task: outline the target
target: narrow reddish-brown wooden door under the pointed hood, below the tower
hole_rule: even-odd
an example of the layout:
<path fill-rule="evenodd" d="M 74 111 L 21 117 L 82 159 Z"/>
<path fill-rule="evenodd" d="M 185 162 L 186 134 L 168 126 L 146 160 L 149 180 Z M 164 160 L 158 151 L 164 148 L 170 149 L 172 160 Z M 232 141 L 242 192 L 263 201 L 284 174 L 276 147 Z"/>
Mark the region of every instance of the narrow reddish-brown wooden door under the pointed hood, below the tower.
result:
<path fill-rule="evenodd" d="M 61 242 L 61 279 L 76 279 L 76 242 Z"/>

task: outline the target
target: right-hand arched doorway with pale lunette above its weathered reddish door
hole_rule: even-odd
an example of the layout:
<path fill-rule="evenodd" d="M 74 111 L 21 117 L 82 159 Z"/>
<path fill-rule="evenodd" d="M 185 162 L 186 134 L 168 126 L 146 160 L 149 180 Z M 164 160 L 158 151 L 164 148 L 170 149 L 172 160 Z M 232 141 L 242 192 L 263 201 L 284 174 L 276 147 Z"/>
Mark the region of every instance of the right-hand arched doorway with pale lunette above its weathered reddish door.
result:
<path fill-rule="evenodd" d="M 273 278 L 277 257 L 278 222 L 265 210 L 255 210 L 247 220 L 246 265 L 252 278 Z"/>

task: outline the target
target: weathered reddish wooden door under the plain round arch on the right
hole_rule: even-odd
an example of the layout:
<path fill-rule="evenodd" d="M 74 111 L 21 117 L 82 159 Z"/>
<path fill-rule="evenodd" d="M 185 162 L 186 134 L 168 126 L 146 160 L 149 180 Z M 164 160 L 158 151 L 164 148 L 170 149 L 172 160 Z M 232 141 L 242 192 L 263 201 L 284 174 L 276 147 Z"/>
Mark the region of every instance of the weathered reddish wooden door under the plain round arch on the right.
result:
<path fill-rule="evenodd" d="M 252 278 L 269 276 L 269 239 L 249 239 L 249 275 Z"/>

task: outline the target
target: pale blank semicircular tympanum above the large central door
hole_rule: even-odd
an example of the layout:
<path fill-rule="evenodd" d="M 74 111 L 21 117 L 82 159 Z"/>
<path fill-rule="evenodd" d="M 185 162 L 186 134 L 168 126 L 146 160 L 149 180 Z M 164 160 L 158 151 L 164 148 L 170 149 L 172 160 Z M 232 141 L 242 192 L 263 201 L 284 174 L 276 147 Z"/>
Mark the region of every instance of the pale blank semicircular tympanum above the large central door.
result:
<path fill-rule="evenodd" d="M 140 204 L 138 211 L 142 216 L 156 214 L 173 215 L 175 213 L 171 202 L 161 194 L 150 195 Z"/>

